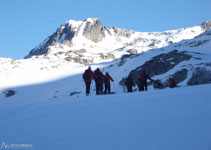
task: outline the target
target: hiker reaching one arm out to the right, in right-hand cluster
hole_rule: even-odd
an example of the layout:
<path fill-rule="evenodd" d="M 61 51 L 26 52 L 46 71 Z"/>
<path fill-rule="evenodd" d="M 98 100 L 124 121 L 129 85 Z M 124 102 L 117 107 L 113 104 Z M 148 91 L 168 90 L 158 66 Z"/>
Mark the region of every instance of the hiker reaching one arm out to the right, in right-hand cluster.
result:
<path fill-rule="evenodd" d="M 139 80 L 139 91 L 147 91 L 147 79 L 153 81 L 147 74 L 146 71 L 143 70 L 143 72 L 141 73 Z"/>

